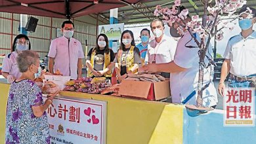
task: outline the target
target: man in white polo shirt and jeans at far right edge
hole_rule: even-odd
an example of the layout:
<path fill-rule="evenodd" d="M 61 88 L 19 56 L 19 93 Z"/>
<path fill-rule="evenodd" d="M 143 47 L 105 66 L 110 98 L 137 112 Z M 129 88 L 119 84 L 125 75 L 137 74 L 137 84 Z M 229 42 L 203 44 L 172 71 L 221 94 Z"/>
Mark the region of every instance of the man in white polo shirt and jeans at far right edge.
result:
<path fill-rule="evenodd" d="M 244 5 L 240 10 L 239 26 L 242 32 L 231 37 L 224 52 L 224 62 L 221 68 L 221 80 L 219 93 L 224 96 L 224 80 L 228 73 L 228 86 L 232 88 L 255 87 L 256 79 L 256 32 L 253 24 L 256 22 L 256 10 L 249 7 L 252 13 Z"/>

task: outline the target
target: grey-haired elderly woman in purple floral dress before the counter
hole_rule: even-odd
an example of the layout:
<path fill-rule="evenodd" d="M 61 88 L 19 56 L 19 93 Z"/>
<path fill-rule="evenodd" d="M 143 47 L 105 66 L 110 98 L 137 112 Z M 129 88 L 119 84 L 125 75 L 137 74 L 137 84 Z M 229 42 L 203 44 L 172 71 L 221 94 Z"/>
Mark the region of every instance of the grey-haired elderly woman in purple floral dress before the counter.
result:
<path fill-rule="evenodd" d="M 9 90 L 5 143 L 50 143 L 45 110 L 56 94 L 43 101 L 40 88 L 32 81 L 39 67 L 36 52 L 23 50 L 16 62 L 21 76 L 12 82 Z"/>

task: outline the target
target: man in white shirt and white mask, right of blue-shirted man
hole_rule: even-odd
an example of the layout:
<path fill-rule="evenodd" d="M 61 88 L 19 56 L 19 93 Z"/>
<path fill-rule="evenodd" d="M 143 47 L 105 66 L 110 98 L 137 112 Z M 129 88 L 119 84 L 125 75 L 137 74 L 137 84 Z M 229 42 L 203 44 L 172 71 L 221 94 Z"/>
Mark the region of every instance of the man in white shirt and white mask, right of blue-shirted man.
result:
<path fill-rule="evenodd" d="M 150 24 L 155 39 L 150 41 L 145 58 L 146 63 L 168 63 L 174 59 L 177 42 L 173 37 L 164 34 L 163 21 L 156 18 Z M 169 78 L 169 73 L 161 73 L 163 77 Z"/>

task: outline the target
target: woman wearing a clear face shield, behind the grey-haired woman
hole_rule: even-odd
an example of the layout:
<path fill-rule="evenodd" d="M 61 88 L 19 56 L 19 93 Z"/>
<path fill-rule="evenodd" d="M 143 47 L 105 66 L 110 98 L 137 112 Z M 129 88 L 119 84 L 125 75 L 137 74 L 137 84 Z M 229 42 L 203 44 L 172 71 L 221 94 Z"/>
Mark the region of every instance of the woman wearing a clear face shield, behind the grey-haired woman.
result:
<path fill-rule="evenodd" d="M 12 43 L 12 52 L 3 59 L 2 74 L 9 83 L 21 75 L 18 71 L 16 57 L 22 50 L 30 50 L 30 39 L 26 35 L 17 35 Z"/>

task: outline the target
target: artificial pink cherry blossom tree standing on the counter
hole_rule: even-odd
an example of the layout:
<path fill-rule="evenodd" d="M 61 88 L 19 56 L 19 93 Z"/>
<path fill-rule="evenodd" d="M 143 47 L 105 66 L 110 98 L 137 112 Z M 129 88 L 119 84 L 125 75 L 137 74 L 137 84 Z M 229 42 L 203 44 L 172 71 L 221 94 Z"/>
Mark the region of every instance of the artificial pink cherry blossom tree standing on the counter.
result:
<path fill-rule="evenodd" d="M 188 0 L 193 3 L 192 0 Z M 203 69 L 207 67 L 209 63 L 214 64 L 213 58 L 209 60 L 209 63 L 205 63 L 205 52 L 209 48 L 210 41 L 215 37 L 215 41 L 223 39 L 223 28 L 232 30 L 234 28 L 234 20 L 238 18 L 234 13 L 237 9 L 242 8 L 246 4 L 245 0 L 200 0 L 203 3 L 203 15 L 200 18 L 199 15 L 191 16 L 190 22 L 184 22 L 188 15 L 188 9 L 184 9 L 178 14 L 176 7 L 181 6 L 181 0 L 175 0 L 173 7 L 162 8 L 157 6 L 154 11 L 155 16 L 162 16 L 163 21 L 168 26 L 173 26 L 175 22 L 179 22 L 180 26 L 177 27 L 179 35 L 183 35 L 185 31 L 189 31 L 190 35 L 196 42 L 199 48 L 198 55 L 200 56 L 199 66 L 199 79 L 198 79 L 198 98 L 196 99 L 197 105 L 186 105 L 188 109 L 197 109 L 202 111 L 212 110 L 209 107 L 203 107 L 202 92 L 207 88 L 207 84 L 203 85 Z M 214 5 L 213 5 L 213 2 Z M 195 5 L 194 5 L 195 6 Z M 196 9 L 194 9 L 196 11 Z M 198 14 L 198 12 L 196 12 Z M 247 8 L 247 13 L 251 14 L 251 10 Z M 231 18 L 230 21 L 221 20 L 221 16 L 226 15 Z M 252 15 L 251 15 L 252 16 Z M 181 23 L 182 22 L 182 23 Z M 217 29 L 218 26 L 218 29 Z M 194 37 L 193 33 L 200 35 L 200 41 Z"/>

